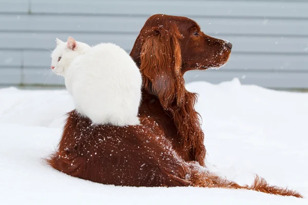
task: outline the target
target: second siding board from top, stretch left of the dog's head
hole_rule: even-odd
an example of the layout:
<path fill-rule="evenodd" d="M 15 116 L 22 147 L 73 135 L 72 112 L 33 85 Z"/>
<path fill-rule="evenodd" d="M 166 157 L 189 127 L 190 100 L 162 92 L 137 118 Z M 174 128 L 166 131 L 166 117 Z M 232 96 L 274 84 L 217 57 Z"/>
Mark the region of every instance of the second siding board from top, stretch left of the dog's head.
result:
<path fill-rule="evenodd" d="M 145 20 L 146 18 L 142 17 L 124 18 L 121 16 L 0 15 L 0 29 L 4 31 L 134 32 L 138 34 Z"/>

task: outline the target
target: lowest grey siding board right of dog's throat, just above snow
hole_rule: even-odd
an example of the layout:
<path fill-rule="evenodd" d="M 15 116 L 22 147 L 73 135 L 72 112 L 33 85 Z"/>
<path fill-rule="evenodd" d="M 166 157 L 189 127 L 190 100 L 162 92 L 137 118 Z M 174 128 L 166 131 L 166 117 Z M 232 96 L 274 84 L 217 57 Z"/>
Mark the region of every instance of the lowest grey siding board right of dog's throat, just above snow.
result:
<path fill-rule="evenodd" d="M 226 72 L 222 70 L 211 71 L 189 71 L 185 73 L 185 83 L 192 81 L 208 81 L 219 84 L 222 81 L 239 78 L 241 84 L 258 85 L 267 88 L 308 88 L 307 72 Z"/>

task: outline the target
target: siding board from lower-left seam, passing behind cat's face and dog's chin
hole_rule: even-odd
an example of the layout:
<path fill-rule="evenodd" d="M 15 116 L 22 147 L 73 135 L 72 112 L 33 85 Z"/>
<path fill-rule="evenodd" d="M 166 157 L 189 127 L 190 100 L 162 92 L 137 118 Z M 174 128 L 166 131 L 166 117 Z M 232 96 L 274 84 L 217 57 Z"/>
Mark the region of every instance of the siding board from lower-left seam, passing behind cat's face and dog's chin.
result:
<path fill-rule="evenodd" d="M 25 67 L 48 69 L 51 65 L 49 51 L 25 51 Z M 300 55 L 245 55 L 231 54 L 225 71 L 303 71 L 308 73 L 308 57 Z M 308 81 L 308 80 L 307 80 Z"/>

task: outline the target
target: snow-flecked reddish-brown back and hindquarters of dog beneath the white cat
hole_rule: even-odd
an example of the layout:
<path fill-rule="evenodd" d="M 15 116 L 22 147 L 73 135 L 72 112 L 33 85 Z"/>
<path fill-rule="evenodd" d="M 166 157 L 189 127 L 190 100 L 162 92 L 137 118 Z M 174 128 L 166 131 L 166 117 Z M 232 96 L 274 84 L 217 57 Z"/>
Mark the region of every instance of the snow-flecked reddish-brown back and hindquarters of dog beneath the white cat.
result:
<path fill-rule="evenodd" d="M 188 186 L 187 166 L 157 129 L 143 125 L 91 126 L 75 111 L 68 119 L 59 151 L 48 163 L 68 175 L 106 185 L 157 187 Z"/>

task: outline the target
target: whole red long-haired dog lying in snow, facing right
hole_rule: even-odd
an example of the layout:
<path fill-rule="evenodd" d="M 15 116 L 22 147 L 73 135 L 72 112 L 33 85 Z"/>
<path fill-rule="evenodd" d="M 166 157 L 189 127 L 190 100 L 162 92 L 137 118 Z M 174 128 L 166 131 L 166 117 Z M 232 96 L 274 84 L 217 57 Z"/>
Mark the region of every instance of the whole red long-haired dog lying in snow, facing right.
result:
<path fill-rule="evenodd" d="M 232 44 L 205 35 L 189 18 L 151 16 L 130 53 L 144 80 L 141 125 L 92 126 L 87 117 L 71 111 L 49 164 L 108 185 L 252 189 L 301 197 L 258 177 L 251 187 L 239 186 L 202 169 L 205 148 L 194 109 L 197 96 L 185 89 L 183 74 L 224 65 L 231 49 Z"/>

